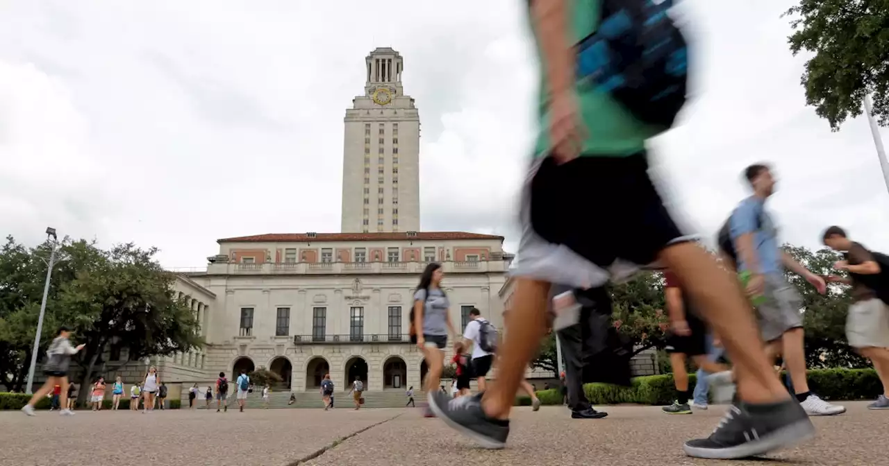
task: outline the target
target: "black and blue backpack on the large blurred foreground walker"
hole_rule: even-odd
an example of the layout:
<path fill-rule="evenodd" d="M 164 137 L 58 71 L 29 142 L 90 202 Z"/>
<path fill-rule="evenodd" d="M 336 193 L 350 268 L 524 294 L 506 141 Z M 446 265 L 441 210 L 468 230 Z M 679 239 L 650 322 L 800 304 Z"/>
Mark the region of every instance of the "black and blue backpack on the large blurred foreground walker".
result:
<path fill-rule="evenodd" d="M 599 0 L 595 32 L 576 45 L 577 80 L 613 96 L 640 122 L 668 129 L 685 106 L 688 52 L 673 0 Z"/>

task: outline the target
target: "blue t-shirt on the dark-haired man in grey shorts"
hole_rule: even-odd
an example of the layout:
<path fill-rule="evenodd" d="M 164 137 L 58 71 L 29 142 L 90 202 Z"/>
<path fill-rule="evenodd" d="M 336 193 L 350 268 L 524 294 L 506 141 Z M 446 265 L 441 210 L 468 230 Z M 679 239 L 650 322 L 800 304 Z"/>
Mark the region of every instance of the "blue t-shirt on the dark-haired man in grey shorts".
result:
<path fill-rule="evenodd" d="M 732 212 L 729 233 L 732 235 L 732 241 L 737 241 L 742 234 L 753 233 L 753 246 L 757 249 L 759 258 L 759 272 L 783 275 L 778 229 L 772 217 L 765 211 L 765 201 L 755 196 L 741 201 L 738 208 Z M 741 255 L 738 257 L 738 270 L 747 270 L 747 264 Z"/>

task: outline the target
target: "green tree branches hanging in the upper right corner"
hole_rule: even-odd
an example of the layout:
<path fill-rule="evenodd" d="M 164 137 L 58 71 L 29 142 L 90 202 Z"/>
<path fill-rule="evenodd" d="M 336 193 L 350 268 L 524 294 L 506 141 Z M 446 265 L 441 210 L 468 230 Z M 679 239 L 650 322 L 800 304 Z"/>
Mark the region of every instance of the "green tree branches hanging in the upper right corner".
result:
<path fill-rule="evenodd" d="M 877 0 L 799 0 L 790 50 L 814 54 L 805 63 L 806 104 L 838 130 L 873 93 L 874 115 L 889 122 L 889 2 Z"/>

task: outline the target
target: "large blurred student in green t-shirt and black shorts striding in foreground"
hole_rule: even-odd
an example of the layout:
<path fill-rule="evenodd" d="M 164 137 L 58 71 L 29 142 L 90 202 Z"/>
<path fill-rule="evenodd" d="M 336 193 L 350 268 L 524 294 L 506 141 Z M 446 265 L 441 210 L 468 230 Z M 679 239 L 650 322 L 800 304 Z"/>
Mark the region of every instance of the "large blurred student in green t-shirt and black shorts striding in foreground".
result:
<path fill-rule="evenodd" d="M 740 401 L 730 408 L 731 415 L 709 438 L 686 442 L 685 454 L 741 458 L 810 438 L 813 424 L 775 376 L 737 280 L 720 270 L 708 251 L 686 241 L 689 237 L 673 221 L 648 174 L 645 141 L 669 129 L 685 99 L 687 51 L 669 15 L 661 12 L 671 2 L 624 2 L 649 16 L 630 17 L 629 28 L 611 31 L 613 40 L 656 42 L 613 51 L 604 36 L 596 34 L 603 14 L 609 20 L 610 12 L 623 12 L 623 2 L 528 2 L 543 64 L 542 131 L 523 195 L 523 234 L 517 251 L 521 260 L 512 272 L 515 304 L 506 316 L 507 337 L 498 349 L 497 383 L 459 406 L 430 393 L 429 405 L 445 423 L 482 446 L 502 448 L 516 392 L 537 351 L 528 342 L 541 341 L 547 331 L 551 283 L 596 288 L 618 265 L 660 261 L 700 304 L 740 375 Z M 602 4 L 613 8 L 605 12 Z M 619 54 L 620 60 L 596 55 L 603 48 Z M 649 49 L 655 53 L 647 53 Z M 578 59 L 581 53 L 583 60 Z M 609 71 L 608 65 L 617 70 Z M 621 75 L 625 70 L 637 75 L 628 80 Z M 648 86 L 621 85 L 636 82 L 635 76 L 641 79 L 642 71 Z M 600 76 L 618 88 L 600 87 Z M 670 109 L 671 103 L 678 105 Z M 585 215 L 577 215 L 578 202 L 585 206 Z M 591 222 L 591 217 L 597 221 Z M 750 435 L 751 429 L 756 435 Z"/>

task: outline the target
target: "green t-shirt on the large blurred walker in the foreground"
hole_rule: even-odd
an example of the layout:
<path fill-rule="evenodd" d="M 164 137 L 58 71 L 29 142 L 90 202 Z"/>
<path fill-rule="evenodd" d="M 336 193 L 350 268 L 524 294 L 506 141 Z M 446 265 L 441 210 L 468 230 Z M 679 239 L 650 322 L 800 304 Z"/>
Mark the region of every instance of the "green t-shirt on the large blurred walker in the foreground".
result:
<path fill-rule="evenodd" d="M 568 26 L 571 28 L 569 44 L 579 43 L 592 34 L 599 23 L 599 3 L 593 0 L 569 0 Z M 532 25 L 533 30 L 533 25 Z M 536 31 L 535 35 L 536 35 Z M 540 44 L 537 56 L 541 62 L 541 84 L 538 91 L 538 123 L 540 134 L 534 146 L 535 156 L 549 153 L 549 83 L 547 82 L 545 57 Z M 661 130 L 639 122 L 627 109 L 609 94 L 597 91 L 589 85 L 575 84 L 581 120 L 586 127 L 581 155 L 597 157 L 626 157 L 645 149 L 645 139 L 652 138 Z"/>

